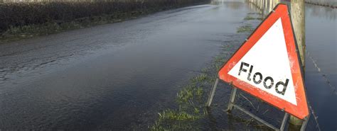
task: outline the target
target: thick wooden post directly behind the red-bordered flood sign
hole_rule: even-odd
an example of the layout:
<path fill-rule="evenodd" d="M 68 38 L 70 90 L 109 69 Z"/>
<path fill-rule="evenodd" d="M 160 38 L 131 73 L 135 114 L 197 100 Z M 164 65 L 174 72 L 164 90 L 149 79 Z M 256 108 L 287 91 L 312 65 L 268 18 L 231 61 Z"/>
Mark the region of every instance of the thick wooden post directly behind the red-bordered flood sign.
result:
<path fill-rule="evenodd" d="M 301 58 L 301 64 L 303 70 L 305 71 L 305 10 L 304 10 L 304 0 L 291 0 L 291 21 L 294 26 L 294 33 L 296 37 L 297 47 L 299 47 L 299 55 Z M 303 74 L 304 75 L 304 74 Z M 303 121 L 290 116 L 289 120 L 289 130 L 300 130 Z"/>

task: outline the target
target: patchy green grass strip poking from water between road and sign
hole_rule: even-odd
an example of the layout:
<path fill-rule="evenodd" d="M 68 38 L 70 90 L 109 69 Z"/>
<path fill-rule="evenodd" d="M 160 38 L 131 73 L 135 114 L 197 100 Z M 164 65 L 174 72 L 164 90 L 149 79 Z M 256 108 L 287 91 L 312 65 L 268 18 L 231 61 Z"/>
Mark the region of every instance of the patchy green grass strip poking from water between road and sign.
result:
<path fill-rule="evenodd" d="M 252 32 L 252 25 L 246 24 L 237 28 L 237 33 L 244 32 Z M 229 45 L 223 45 L 223 52 L 213 58 L 210 66 L 201 69 L 202 73 L 194 76 L 181 91 L 178 91 L 176 102 L 179 109 L 163 110 L 159 113 L 159 117 L 154 125 L 149 127 L 149 130 L 200 130 L 198 127 L 200 126 L 200 120 L 208 114 L 205 103 L 208 98 L 209 87 L 213 85 L 218 70 L 230 57 L 232 52 L 228 50 L 232 49 L 230 47 L 232 46 L 232 42 L 240 43 L 228 41 Z"/>

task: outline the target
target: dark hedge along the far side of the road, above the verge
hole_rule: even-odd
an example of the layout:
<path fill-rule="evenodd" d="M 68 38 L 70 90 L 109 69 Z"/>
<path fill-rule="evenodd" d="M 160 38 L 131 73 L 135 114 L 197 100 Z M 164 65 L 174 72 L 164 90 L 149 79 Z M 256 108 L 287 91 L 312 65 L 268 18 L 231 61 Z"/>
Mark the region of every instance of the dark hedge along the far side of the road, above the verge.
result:
<path fill-rule="evenodd" d="M 2 2 L 1 1 L 5 1 Z M 154 12 L 187 6 L 208 0 L 123 0 L 123 1 L 58 1 L 6 2 L 0 0 L 0 33 L 13 27 L 41 23 L 63 23 L 79 18 L 121 14 L 137 11 Z M 16 0 L 15 0 L 16 1 Z M 31 0 L 27 0 L 31 1 Z M 38 0 L 40 1 L 40 0 Z"/>

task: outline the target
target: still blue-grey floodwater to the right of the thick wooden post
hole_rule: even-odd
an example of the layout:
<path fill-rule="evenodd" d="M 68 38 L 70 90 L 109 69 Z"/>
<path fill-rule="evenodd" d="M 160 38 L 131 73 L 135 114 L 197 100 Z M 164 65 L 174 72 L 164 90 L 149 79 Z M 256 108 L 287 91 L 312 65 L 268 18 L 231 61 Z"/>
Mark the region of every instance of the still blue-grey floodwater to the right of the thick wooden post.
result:
<path fill-rule="evenodd" d="M 306 92 L 321 130 L 337 130 L 336 32 L 336 8 L 306 4 Z"/>

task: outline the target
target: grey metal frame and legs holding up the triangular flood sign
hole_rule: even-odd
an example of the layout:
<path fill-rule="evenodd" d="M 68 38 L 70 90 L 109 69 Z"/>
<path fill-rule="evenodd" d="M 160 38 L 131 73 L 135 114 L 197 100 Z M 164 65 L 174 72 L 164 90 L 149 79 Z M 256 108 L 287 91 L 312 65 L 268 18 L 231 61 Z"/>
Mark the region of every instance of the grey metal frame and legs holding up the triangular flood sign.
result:
<path fill-rule="evenodd" d="M 280 5 L 280 4 L 277 4 L 277 6 L 279 6 L 279 5 Z M 287 5 L 287 4 L 283 4 L 283 5 Z M 269 14 L 266 16 L 266 18 L 268 18 L 272 13 L 275 12 L 275 8 L 277 8 L 277 6 L 275 6 L 275 7 L 273 8 L 272 12 L 269 13 Z M 289 19 L 290 19 L 290 22 L 291 22 L 291 16 L 290 16 L 290 14 L 289 14 L 289 8 L 288 8 L 288 15 L 289 15 Z M 262 23 L 264 23 L 265 20 L 266 20 L 266 19 L 264 19 L 264 20 L 262 21 Z M 259 28 L 259 27 L 262 25 L 262 23 L 260 23 L 260 25 L 258 25 L 257 28 Z M 251 37 L 252 37 L 252 35 L 256 32 L 257 28 L 250 34 L 250 36 L 249 36 L 248 38 L 251 38 Z M 295 34 L 295 33 L 294 33 L 294 27 L 293 27 L 292 23 L 291 23 L 291 30 L 292 30 L 292 33 Z M 247 39 L 245 40 L 245 42 L 247 42 Z M 242 45 L 244 45 L 245 42 L 243 42 Z M 299 57 L 299 49 L 298 49 L 298 46 L 297 46 L 297 43 L 296 43 L 296 37 L 295 37 L 295 36 L 294 36 L 294 44 L 295 44 L 295 47 L 296 47 L 297 58 L 300 59 L 300 57 Z M 242 45 L 239 47 L 238 50 L 240 50 L 240 48 L 242 47 Z M 237 50 L 237 51 L 238 51 L 238 50 Z M 236 52 L 237 52 L 237 51 L 236 51 Z M 236 52 L 235 52 L 235 53 L 236 53 Z M 234 54 L 235 54 L 235 53 L 234 53 Z M 232 58 L 232 57 L 231 57 L 231 58 Z M 230 59 L 231 59 L 231 58 L 230 58 Z M 228 59 L 228 60 L 229 60 L 229 59 Z M 223 66 L 219 69 L 218 72 L 220 72 L 220 70 L 221 70 L 223 67 L 225 67 L 225 64 L 227 64 L 227 62 L 225 62 L 225 63 L 223 64 Z M 303 68 L 302 68 L 303 66 L 302 66 L 302 63 L 301 63 L 300 61 L 299 61 L 299 67 L 300 67 L 300 72 L 301 72 L 301 74 L 304 74 L 304 71 L 303 71 Z M 303 81 L 304 81 L 304 75 L 301 75 L 301 78 L 302 78 Z M 217 79 L 215 79 L 213 88 L 211 89 L 210 95 L 208 96 L 208 101 L 207 101 L 207 103 L 206 103 L 206 106 L 207 106 L 207 107 L 210 107 L 210 104 L 211 104 L 212 101 L 213 101 L 213 97 L 214 97 L 214 94 L 215 94 L 215 89 L 216 89 L 217 86 L 218 86 L 218 82 L 219 82 L 219 75 L 217 74 Z M 260 123 L 262 123 L 262 124 L 264 124 L 264 125 L 267 125 L 267 127 L 272 128 L 273 130 L 282 130 L 282 131 L 284 130 L 284 127 L 285 127 L 285 125 L 286 125 L 286 123 L 287 123 L 287 120 L 288 120 L 288 118 L 289 118 L 289 113 L 287 113 L 287 112 L 285 112 L 284 110 L 281 109 L 282 111 L 284 111 L 284 118 L 283 118 L 283 120 L 282 120 L 282 124 L 281 124 L 281 126 L 280 126 L 279 128 L 274 127 L 274 125 L 267 123 L 266 121 L 262 120 L 262 118 L 259 118 L 259 117 L 257 117 L 256 115 L 250 113 L 248 110 L 245 110 L 244 108 L 241 108 L 240 106 L 237 106 L 237 105 L 235 104 L 235 96 L 236 96 L 236 92 L 237 92 L 237 87 L 235 87 L 234 85 L 232 85 L 232 83 L 230 83 L 230 85 L 232 86 L 232 92 L 231 92 L 231 94 L 230 94 L 230 102 L 228 103 L 228 109 L 227 109 L 228 112 L 231 112 L 232 108 L 237 108 L 237 109 L 239 109 L 240 111 L 242 111 L 243 113 L 245 113 L 245 114 L 247 114 L 247 115 L 250 115 L 252 118 L 254 118 L 255 120 L 259 121 Z M 304 96 L 305 96 L 305 98 L 306 98 L 306 89 L 305 89 L 305 88 L 304 88 Z M 263 100 L 262 100 L 262 101 L 263 101 Z M 270 104 L 270 103 L 269 103 L 269 104 Z M 306 104 L 308 105 L 308 101 L 306 101 Z M 273 106 L 273 105 L 272 105 L 272 106 Z M 274 107 L 276 107 L 276 106 L 274 106 Z M 277 108 L 277 107 L 276 107 L 276 108 Z M 309 118 L 310 118 L 310 113 L 303 119 L 303 120 L 304 120 L 304 123 L 301 125 L 301 130 L 305 130 L 306 125 L 307 125 L 308 122 L 309 122 Z"/>

